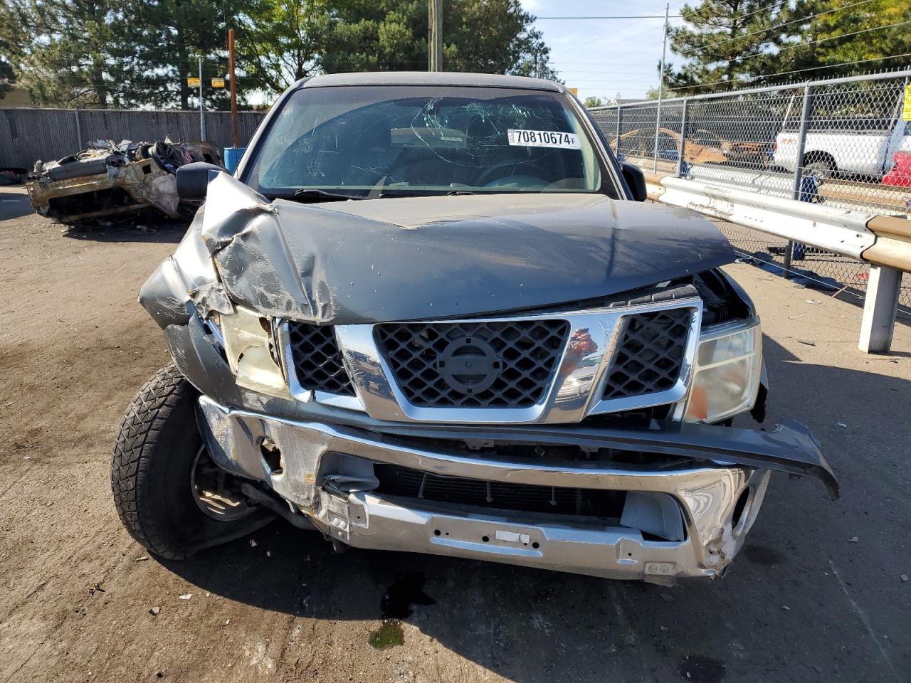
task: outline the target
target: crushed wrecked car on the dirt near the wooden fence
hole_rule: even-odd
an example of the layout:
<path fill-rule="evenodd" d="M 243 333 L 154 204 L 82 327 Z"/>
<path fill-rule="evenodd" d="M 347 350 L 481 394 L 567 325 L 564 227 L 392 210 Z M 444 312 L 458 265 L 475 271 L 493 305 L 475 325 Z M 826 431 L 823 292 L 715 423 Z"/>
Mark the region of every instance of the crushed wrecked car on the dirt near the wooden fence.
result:
<path fill-rule="evenodd" d="M 189 218 L 199 203 L 180 201 L 174 173 L 194 161 L 220 166 L 221 157 L 208 142 L 98 140 L 76 155 L 37 161 L 28 198 L 42 216 L 71 225 L 143 213 Z"/>

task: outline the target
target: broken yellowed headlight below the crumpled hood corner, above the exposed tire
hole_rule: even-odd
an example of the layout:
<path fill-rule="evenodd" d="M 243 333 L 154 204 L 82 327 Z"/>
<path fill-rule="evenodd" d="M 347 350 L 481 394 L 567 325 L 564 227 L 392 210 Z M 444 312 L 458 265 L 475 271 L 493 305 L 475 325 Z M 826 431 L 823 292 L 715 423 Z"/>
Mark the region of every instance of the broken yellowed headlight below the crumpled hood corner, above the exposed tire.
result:
<path fill-rule="evenodd" d="M 235 305 L 234 310 L 230 315 L 221 313 L 212 322 L 220 331 L 235 381 L 255 392 L 291 398 L 281 367 L 272 358 L 269 320 L 242 306 Z"/>

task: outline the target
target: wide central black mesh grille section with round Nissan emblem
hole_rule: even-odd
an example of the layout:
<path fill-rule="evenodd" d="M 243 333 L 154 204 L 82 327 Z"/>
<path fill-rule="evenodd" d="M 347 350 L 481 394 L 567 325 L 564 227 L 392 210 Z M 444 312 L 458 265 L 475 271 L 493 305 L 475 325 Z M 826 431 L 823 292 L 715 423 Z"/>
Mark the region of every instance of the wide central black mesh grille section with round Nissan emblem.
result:
<path fill-rule="evenodd" d="M 544 398 L 568 327 L 559 320 L 397 323 L 377 325 L 374 334 L 415 406 L 527 408 Z"/>

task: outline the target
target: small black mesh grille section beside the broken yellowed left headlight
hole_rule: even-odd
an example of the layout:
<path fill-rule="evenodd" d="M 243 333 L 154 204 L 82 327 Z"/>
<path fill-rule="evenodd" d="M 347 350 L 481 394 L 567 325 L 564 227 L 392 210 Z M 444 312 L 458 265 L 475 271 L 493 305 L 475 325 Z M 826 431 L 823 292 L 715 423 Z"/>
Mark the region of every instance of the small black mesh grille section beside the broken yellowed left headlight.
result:
<path fill-rule="evenodd" d="M 288 337 L 294 372 L 304 389 L 354 395 L 332 327 L 289 321 Z"/>

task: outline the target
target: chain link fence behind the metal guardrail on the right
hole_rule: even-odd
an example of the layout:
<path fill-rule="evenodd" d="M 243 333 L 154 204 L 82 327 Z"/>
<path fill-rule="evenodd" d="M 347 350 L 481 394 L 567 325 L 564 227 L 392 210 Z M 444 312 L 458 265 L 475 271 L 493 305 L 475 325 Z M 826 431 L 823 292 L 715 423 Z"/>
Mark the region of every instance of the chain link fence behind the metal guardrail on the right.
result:
<path fill-rule="evenodd" d="M 646 172 L 775 197 L 911 218 L 911 71 L 594 107 L 610 147 Z M 752 260 L 863 296 L 857 260 L 720 225 Z M 911 278 L 900 303 L 911 307 Z"/>

